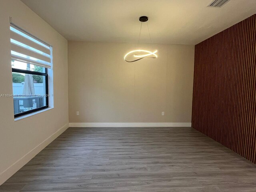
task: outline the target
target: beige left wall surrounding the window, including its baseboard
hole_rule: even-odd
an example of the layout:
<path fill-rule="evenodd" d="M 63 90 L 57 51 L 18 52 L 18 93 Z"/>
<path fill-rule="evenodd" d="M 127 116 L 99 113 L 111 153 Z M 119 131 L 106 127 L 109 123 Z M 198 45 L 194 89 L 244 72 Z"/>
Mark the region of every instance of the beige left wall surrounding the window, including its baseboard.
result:
<path fill-rule="evenodd" d="M 68 126 L 67 40 L 19 0 L 0 1 L 0 94 L 12 94 L 9 16 L 53 46 L 54 108 L 15 122 L 13 98 L 0 97 L 0 184 Z"/>

